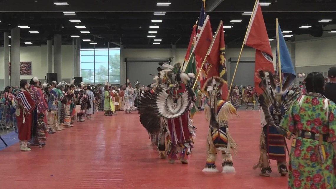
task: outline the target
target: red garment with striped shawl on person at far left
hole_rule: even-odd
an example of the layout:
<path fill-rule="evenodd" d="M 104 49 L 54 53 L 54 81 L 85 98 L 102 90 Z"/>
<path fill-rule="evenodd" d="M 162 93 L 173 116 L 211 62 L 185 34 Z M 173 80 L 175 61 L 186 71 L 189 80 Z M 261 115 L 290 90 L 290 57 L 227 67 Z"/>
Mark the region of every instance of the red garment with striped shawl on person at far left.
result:
<path fill-rule="evenodd" d="M 32 99 L 32 95 L 28 91 L 21 89 L 17 94 L 17 108 L 15 113 L 20 141 L 28 141 L 31 139 L 33 124 L 32 111 L 34 108 L 35 102 Z"/>

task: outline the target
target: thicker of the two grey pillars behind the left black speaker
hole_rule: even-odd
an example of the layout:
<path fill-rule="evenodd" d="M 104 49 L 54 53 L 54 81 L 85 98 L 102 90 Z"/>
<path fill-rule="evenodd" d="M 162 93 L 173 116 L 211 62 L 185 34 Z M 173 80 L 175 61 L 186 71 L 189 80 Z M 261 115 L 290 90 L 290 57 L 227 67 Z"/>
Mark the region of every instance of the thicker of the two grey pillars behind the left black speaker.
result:
<path fill-rule="evenodd" d="M 57 82 L 62 82 L 62 36 L 54 35 L 54 73 L 57 73 Z"/>

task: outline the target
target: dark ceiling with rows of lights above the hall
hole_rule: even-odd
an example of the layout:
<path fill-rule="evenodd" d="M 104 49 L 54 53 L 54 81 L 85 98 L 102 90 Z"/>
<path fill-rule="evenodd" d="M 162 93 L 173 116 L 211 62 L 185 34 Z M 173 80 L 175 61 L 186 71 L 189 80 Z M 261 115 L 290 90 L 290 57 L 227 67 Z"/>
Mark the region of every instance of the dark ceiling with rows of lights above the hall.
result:
<path fill-rule="evenodd" d="M 213 2 L 207 0 L 207 9 Z M 54 2 L 68 2 L 69 6 L 55 6 Z M 170 6 L 156 6 L 157 2 L 170 2 Z M 81 39 L 97 42 L 97 47 L 124 44 L 125 48 L 163 48 L 176 44 L 177 48 L 186 47 L 201 9 L 201 0 L 0 0 L 0 32 L 8 32 L 18 25 L 29 26 L 20 29 L 22 46 L 24 42 L 32 45 L 43 45 L 52 39 L 54 34 L 62 35 L 62 43 L 72 44 L 71 35 L 79 35 Z M 275 19 L 279 18 L 283 31 L 290 34 L 310 34 L 320 37 L 323 27 L 336 24 L 336 0 L 269 0 L 269 6 L 262 6 L 264 20 L 269 38 L 275 36 Z M 224 26 L 226 44 L 243 41 L 254 0 L 223 1 L 213 11 L 208 12 L 213 31 L 220 20 Z M 72 11 L 76 15 L 64 15 Z M 153 15 L 154 12 L 166 12 L 166 15 Z M 81 23 L 70 22 L 70 19 L 81 20 Z M 152 23 L 152 19 L 161 19 L 162 23 Z M 230 20 L 241 19 L 240 23 Z M 330 22 L 319 22 L 330 19 Z M 310 28 L 299 28 L 303 25 Z M 77 29 L 75 26 L 86 26 Z M 160 26 L 150 29 L 149 26 Z M 335 28 L 336 29 L 336 28 Z M 29 33 L 39 31 L 39 33 Z M 81 34 L 80 31 L 90 31 Z M 157 31 L 156 38 L 148 38 L 149 31 Z M 154 34 L 153 34 L 154 35 Z M 162 39 L 160 45 L 153 45 L 153 39 Z M 3 44 L 3 39 L 0 41 Z M 114 43 L 109 43 L 114 42 Z M 82 48 L 93 47 L 89 42 L 82 42 Z"/>

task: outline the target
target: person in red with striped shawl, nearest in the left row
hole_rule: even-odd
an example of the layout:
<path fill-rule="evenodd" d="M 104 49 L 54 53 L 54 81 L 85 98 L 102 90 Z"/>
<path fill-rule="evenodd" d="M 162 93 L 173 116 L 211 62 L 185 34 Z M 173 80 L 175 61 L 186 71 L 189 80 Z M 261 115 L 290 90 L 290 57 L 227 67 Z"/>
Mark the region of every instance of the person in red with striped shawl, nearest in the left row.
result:
<path fill-rule="evenodd" d="M 15 111 L 21 151 L 31 151 L 27 145 L 28 141 L 31 139 L 32 134 L 32 112 L 35 108 L 35 102 L 28 89 L 29 84 L 27 80 L 21 80 L 20 92 L 17 94 L 17 108 Z"/>

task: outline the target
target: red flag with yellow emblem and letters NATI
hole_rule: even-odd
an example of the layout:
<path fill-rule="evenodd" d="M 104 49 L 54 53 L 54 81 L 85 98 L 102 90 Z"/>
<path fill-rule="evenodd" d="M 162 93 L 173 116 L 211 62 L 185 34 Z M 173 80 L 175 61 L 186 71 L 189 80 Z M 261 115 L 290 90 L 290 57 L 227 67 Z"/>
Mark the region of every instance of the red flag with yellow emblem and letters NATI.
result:
<path fill-rule="evenodd" d="M 222 100 L 226 100 L 228 90 L 227 90 L 224 29 L 222 21 L 220 21 L 216 35 L 213 38 L 213 44 L 209 51 L 205 69 L 206 69 L 206 79 L 209 79 L 212 76 L 219 76 L 225 81 L 221 89 L 222 90 L 221 97 Z"/>

